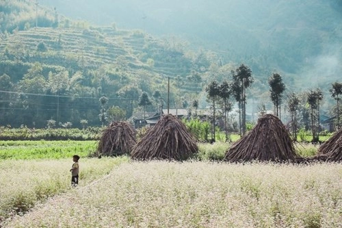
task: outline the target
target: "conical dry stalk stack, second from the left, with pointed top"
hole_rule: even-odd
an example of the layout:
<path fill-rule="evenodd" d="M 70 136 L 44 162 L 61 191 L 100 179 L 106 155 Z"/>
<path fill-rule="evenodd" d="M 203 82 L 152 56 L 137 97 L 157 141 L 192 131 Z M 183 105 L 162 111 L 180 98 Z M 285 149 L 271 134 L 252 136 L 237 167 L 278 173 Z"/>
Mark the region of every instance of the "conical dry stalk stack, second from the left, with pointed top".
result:
<path fill-rule="evenodd" d="M 198 152 L 196 140 L 184 123 L 168 114 L 137 142 L 131 157 L 137 160 L 186 160 Z"/>

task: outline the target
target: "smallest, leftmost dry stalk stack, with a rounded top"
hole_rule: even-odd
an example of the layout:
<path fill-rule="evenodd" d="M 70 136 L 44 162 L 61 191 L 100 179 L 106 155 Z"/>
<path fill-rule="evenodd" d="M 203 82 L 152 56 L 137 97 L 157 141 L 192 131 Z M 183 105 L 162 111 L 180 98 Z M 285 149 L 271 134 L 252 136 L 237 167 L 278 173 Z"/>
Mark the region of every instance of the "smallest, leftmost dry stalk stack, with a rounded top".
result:
<path fill-rule="evenodd" d="M 99 154 L 107 156 L 129 154 L 135 142 L 135 130 L 130 123 L 112 122 L 103 131 L 97 151 Z"/>

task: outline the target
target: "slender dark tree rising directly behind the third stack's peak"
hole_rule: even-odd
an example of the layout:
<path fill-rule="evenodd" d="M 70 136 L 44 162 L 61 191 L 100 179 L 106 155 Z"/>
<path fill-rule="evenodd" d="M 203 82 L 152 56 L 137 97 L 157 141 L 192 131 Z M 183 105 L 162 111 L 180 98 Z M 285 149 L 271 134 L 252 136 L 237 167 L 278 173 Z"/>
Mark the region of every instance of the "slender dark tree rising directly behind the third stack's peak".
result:
<path fill-rule="evenodd" d="M 269 92 L 271 92 L 271 100 L 276 110 L 276 116 L 280 118 L 281 99 L 282 93 L 285 91 L 285 84 L 282 82 L 282 77 L 278 73 L 273 73 L 269 77 L 268 84 L 270 87 Z"/>

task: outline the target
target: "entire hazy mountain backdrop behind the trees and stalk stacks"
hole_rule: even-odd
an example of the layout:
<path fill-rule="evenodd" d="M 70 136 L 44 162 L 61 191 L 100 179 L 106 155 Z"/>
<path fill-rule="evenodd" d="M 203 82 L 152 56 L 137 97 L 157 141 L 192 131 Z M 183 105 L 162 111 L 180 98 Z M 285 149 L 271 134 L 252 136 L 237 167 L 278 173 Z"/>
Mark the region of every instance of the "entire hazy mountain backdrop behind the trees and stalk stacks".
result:
<path fill-rule="evenodd" d="M 163 3 L 168 13 L 163 15 L 165 20 L 159 20 L 160 27 L 180 31 L 180 36 L 165 38 L 146 33 L 150 25 L 128 30 L 118 29 L 109 19 L 101 27 L 73 20 L 60 13 L 68 12 L 62 1 L 53 3 L 58 8 L 40 3 L 36 14 L 34 1 L 0 2 L 0 125 L 44 127 L 48 120 L 60 126 L 81 127 L 80 121 L 100 125 L 104 119 L 111 120 L 104 112 L 111 107 L 120 107 L 126 118 L 142 110 L 138 105 L 142 92 L 148 93 L 152 103 L 148 111 L 155 112 L 161 105 L 166 107 L 168 77 L 170 107 L 188 108 L 196 99 L 205 108 L 209 106 L 205 87 L 213 80 L 231 79 L 231 71 L 241 63 L 250 66 L 255 78 L 247 91 L 248 99 L 253 99 L 248 101 L 250 111 L 255 112 L 269 103 L 267 79 L 272 71 L 281 73 L 291 91 L 319 86 L 326 95 L 342 72 L 342 27 L 337 23 L 341 16 L 334 10 L 339 2 L 333 8 L 330 1 L 313 1 L 305 8 L 298 1 L 201 1 L 194 11 L 189 10 L 192 1 L 188 6 Z M 131 0 L 118 8 L 133 3 L 140 5 Z M 70 4 L 77 17 L 94 1 Z M 163 4 L 146 1 L 142 9 L 161 12 Z M 220 4 L 223 11 L 215 14 Z M 100 5 L 108 6 L 105 12 L 118 6 L 109 1 Z M 254 12 L 253 7 L 261 11 Z M 246 9 L 246 14 L 239 14 L 239 9 Z M 318 16 L 310 16 L 319 9 Z M 139 17 L 135 10 L 127 15 L 134 12 L 132 18 Z M 158 21 L 153 15 L 148 20 Z M 101 103 L 101 97 L 108 100 Z"/>

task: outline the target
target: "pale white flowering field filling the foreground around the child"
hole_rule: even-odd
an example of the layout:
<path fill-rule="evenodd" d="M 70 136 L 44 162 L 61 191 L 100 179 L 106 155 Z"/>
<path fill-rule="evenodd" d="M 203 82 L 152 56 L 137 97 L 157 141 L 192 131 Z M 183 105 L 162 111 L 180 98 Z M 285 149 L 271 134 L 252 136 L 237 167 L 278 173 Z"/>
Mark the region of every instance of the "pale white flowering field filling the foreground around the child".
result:
<path fill-rule="evenodd" d="M 0 162 L 2 216 L 34 204 L 3 227 L 342 227 L 341 164 L 127 160 L 84 159 L 77 188 L 67 160 Z"/>

